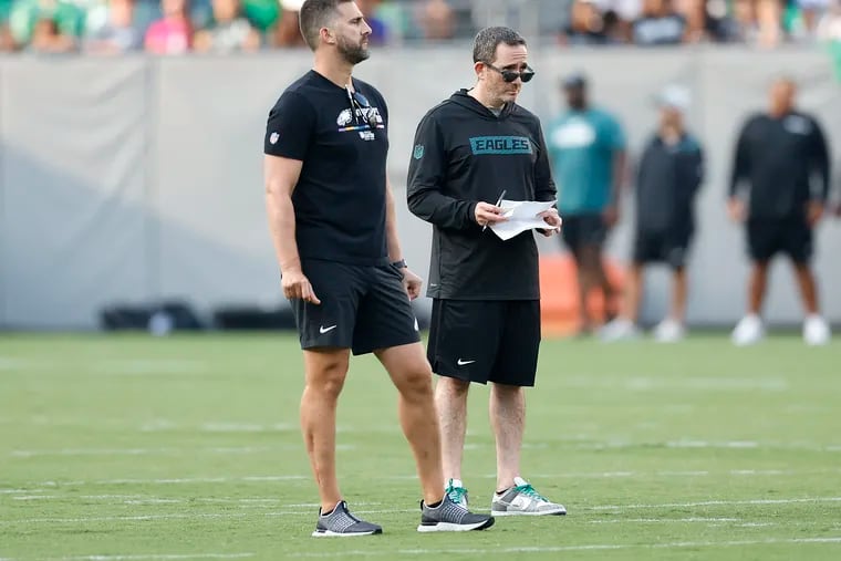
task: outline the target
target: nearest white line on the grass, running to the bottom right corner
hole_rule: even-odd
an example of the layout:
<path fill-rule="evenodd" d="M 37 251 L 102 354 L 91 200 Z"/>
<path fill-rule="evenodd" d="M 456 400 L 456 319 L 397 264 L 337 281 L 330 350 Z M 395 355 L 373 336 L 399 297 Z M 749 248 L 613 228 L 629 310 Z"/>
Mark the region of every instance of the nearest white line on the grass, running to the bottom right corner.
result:
<path fill-rule="evenodd" d="M 788 543 L 841 543 L 838 538 L 792 538 L 739 541 L 676 541 L 671 543 L 593 543 L 582 546 L 522 547 L 522 548 L 465 548 L 465 549 L 398 549 L 396 551 L 344 550 L 336 552 L 294 552 L 289 557 L 331 558 L 344 555 L 427 555 L 427 554 L 482 554 L 499 553 L 551 553 L 562 551 L 599 551 L 619 549 L 683 549 L 683 548 L 735 548 L 740 546 L 773 546 Z"/>

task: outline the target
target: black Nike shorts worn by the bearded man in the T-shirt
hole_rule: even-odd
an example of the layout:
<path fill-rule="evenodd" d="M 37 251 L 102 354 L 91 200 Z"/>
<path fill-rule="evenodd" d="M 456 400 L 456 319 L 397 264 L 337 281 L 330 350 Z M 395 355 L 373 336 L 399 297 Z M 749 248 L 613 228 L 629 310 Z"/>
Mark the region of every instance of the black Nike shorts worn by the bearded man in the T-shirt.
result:
<path fill-rule="evenodd" d="M 302 269 L 321 304 L 290 301 L 301 349 L 332 346 L 365 354 L 420 341 L 396 268 L 307 260 Z"/>

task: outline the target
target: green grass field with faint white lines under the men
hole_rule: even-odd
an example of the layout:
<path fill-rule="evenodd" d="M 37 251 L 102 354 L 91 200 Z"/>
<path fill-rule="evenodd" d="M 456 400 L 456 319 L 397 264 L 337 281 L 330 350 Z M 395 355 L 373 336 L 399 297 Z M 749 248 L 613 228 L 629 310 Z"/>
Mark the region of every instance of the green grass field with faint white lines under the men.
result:
<path fill-rule="evenodd" d="M 396 394 L 352 362 L 343 491 L 380 537 L 310 538 L 289 336 L 2 336 L 0 559 L 841 559 L 841 343 L 547 341 L 523 475 L 569 516 L 419 534 Z M 487 388 L 465 479 L 488 510 Z"/>

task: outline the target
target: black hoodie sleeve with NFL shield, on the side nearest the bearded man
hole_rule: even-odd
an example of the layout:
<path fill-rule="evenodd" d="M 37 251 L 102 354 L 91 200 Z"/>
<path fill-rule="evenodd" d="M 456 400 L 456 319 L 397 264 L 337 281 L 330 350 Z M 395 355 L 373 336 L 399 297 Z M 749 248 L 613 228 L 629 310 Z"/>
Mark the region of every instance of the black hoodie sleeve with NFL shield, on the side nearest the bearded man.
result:
<path fill-rule="evenodd" d="M 414 146 L 406 181 L 412 214 L 439 228 L 466 230 L 476 226 L 476 201 L 456 199 L 443 193 L 447 148 L 433 114 L 427 114 L 417 125 Z"/>

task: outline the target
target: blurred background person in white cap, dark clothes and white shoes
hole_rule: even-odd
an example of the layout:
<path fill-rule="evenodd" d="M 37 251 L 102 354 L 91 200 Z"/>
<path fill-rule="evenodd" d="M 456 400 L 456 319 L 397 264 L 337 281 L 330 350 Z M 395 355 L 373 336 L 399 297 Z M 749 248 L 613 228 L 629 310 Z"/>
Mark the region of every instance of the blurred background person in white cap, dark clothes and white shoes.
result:
<path fill-rule="evenodd" d="M 668 315 L 654 329 L 654 339 L 672 343 L 686 333 L 686 262 L 695 233 L 694 207 L 704 178 L 704 154 L 684 123 L 688 92 L 666 87 L 657 103 L 660 124 L 637 166 L 636 232 L 625 304 L 622 315 L 603 328 L 605 341 L 638 335 L 644 268 L 657 262 L 672 268 L 672 300 Z"/>

